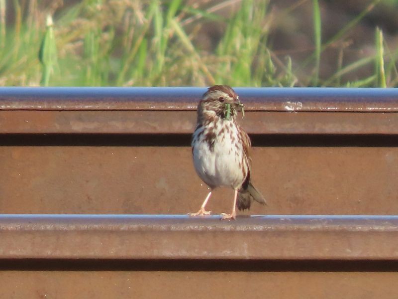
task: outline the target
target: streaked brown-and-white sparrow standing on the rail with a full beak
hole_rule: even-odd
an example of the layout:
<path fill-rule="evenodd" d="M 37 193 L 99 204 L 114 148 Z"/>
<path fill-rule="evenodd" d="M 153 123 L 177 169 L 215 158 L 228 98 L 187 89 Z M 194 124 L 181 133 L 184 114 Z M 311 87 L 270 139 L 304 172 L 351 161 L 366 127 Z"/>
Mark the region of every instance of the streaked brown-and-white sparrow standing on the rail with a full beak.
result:
<path fill-rule="evenodd" d="M 251 142 L 247 133 L 236 122 L 237 110 L 243 111 L 235 91 L 225 85 L 215 85 L 204 93 L 198 105 L 198 121 L 192 136 L 192 154 L 199 177 L 210 192 L 197 213 L 209 215 L 205 206 L 214 188 L 232 187 L 234 199 L 232 213 L 221 214 L 221 219 L 235 219 L 239 210 L 250 209 L 254 199 L 266 204 L 264 197 L 250 182 Z"/>

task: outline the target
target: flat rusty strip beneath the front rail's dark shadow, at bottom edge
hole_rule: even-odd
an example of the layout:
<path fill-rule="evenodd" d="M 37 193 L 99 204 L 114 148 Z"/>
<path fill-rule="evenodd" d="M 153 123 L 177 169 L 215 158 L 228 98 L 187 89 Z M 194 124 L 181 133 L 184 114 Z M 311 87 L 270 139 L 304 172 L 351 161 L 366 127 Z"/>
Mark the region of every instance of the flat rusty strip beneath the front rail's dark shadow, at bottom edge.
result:
<path fill-rule="evenodd" d="M 397 272 L 361 270 L 4 271 L 0 298 L 394 299 L 397 279 Z"/>

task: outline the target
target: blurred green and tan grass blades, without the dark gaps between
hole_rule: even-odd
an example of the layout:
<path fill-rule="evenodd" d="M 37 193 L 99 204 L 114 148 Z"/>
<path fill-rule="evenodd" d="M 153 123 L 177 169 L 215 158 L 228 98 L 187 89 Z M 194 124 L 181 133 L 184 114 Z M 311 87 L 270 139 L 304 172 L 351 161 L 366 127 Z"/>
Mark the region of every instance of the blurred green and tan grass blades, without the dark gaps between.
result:
<path fill-rule="evenodd" d="M 297 1 L 277 14 L 268 0 L 216 1 L 206 8 L 182 0 L 83 0 L 64 7 L 54 4 L 51 9 L 41 9 L 39 2 L 0 0 L 1 86 L 398 84 L 398 50 L 388 46 L 376 26 L 374 53 L 344 63 L 340 51 L 336 71 L 328 77 L 320 75 L 324 51 L 344 42 L 347 32 L 381 0 L 369 1 L 327 39 L 322 36 L 318 0 Z M 293 64 L 289 55 L 283 59 L 276 55 L 269 41 L 270 28 L 305 2 L 312 5 L 313 51 Z M 386 3 L 397 5 L 393 0 Z M 238 9 L 227 16 L 217 13 L 230 4 Z M 6 19 L 6 5 L 12 6 L 11 21 Z M 223 28 L 211 49 L 202 49 L 195 39 L 206 23 Z M 370 76 L 344 79 L 364 66 L 373 67 Z"/>

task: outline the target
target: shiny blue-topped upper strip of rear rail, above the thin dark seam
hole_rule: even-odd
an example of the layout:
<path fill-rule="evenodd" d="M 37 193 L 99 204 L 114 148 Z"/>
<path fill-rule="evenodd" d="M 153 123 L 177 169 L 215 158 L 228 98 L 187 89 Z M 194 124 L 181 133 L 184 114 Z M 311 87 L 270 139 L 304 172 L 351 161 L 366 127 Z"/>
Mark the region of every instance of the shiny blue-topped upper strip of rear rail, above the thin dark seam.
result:
<path fill-rule="evenodd" d="M 0 110 L 196 110 L 202 87 L 2 87 Z M 235 88 L 247 111 L 397 112 L 395 88 Z"/>

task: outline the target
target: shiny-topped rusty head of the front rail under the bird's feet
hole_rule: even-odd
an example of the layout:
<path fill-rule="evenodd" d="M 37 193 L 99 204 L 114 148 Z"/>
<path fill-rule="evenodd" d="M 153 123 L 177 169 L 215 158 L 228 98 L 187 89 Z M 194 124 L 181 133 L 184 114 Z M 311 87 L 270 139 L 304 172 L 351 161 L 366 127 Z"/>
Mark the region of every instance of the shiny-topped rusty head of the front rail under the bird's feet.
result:
<path fill-rule="evenodd" d="M 397 260 L 398 216 L 0 215 L 0 259 Z"/>

